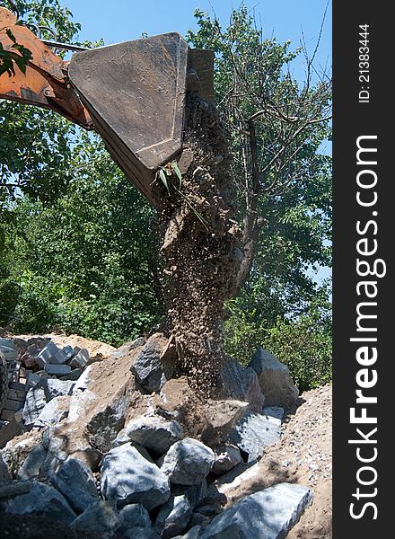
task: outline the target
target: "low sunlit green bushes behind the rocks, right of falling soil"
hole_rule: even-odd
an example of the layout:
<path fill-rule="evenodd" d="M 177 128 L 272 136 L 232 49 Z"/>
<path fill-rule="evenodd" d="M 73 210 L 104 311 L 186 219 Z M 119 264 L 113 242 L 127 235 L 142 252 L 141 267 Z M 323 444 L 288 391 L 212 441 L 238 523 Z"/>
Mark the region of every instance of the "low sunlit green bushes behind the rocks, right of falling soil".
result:
<path fill-rule="evenodd" d="M 259 321 L 253 311 L 246 313 L 237 305 L 230 305 L 224 327 L 226 351 L 248 365 L 256 349 L 268 349 L 289 368 L 301 392 L 329 383 L 332 377 L 330 305 L 325 300 L 324 288 L 320 296 L 306 313 L 292 320 L 278 318 L 272 325 Z"/>

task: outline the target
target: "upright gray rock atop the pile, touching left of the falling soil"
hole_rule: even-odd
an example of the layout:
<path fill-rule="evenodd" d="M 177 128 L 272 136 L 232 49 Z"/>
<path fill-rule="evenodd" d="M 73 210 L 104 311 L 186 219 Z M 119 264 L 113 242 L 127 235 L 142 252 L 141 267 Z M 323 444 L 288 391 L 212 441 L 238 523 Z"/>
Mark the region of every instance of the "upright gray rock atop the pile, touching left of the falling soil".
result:
<path fill-rule="evenodd" d="M 163 361 L 162 351 L 165 341 L 161 333 L 154 333 L 137 355 L 130 370 L 147 391 L 159 392 L 167 380 L 171 378 L 173 368 L 169 362 Z"/>

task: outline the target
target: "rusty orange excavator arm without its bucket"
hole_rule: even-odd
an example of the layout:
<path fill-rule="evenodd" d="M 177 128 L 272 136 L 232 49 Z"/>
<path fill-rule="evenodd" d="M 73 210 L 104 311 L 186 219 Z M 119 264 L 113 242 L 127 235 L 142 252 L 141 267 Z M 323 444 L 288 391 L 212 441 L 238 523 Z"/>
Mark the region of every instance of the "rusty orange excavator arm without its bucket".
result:
<path fill-rule="evenodd" d="M 13 41 L 6 34 L 10 29 L 17 42 L 29 49 L 32 59 L 23 74 L 15 67 L 15 75 L 0 77 L 0 98 L 56 110 L 84 128 L 92 126 L 75 90 L 68 84 L 66 64 L 26 26 L 16 24 L 16 17 L 0 7 L 0 42 L 12 50 Z"/>

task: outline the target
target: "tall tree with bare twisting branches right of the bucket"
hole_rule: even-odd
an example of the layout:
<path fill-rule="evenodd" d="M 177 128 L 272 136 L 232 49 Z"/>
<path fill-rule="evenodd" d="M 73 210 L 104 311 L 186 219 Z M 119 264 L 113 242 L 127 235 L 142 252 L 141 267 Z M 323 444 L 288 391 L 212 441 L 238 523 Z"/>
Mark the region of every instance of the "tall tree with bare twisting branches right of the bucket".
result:
<path fill-rule="evenodd" d="M 200 10 L 195 16 L 199 28 L 189 31 L 189 42 L 215 50 L 215 104 L 233 153 L 244 250 L 239 290 L 250 276 L 241 294 L 250 298 L 259 285 L 273 322 L 315 296 L 306 270 L 330 265 L 330 158 L 320 154 L 330 137 L 330 80 L 315 71 L 315 53 L 309 58 L 304 47 L 291 52 L 289 42 L 265 39 L 243 5 L 226 29 Z M 303 84 L 290 68 L 301 53 Z"/>

